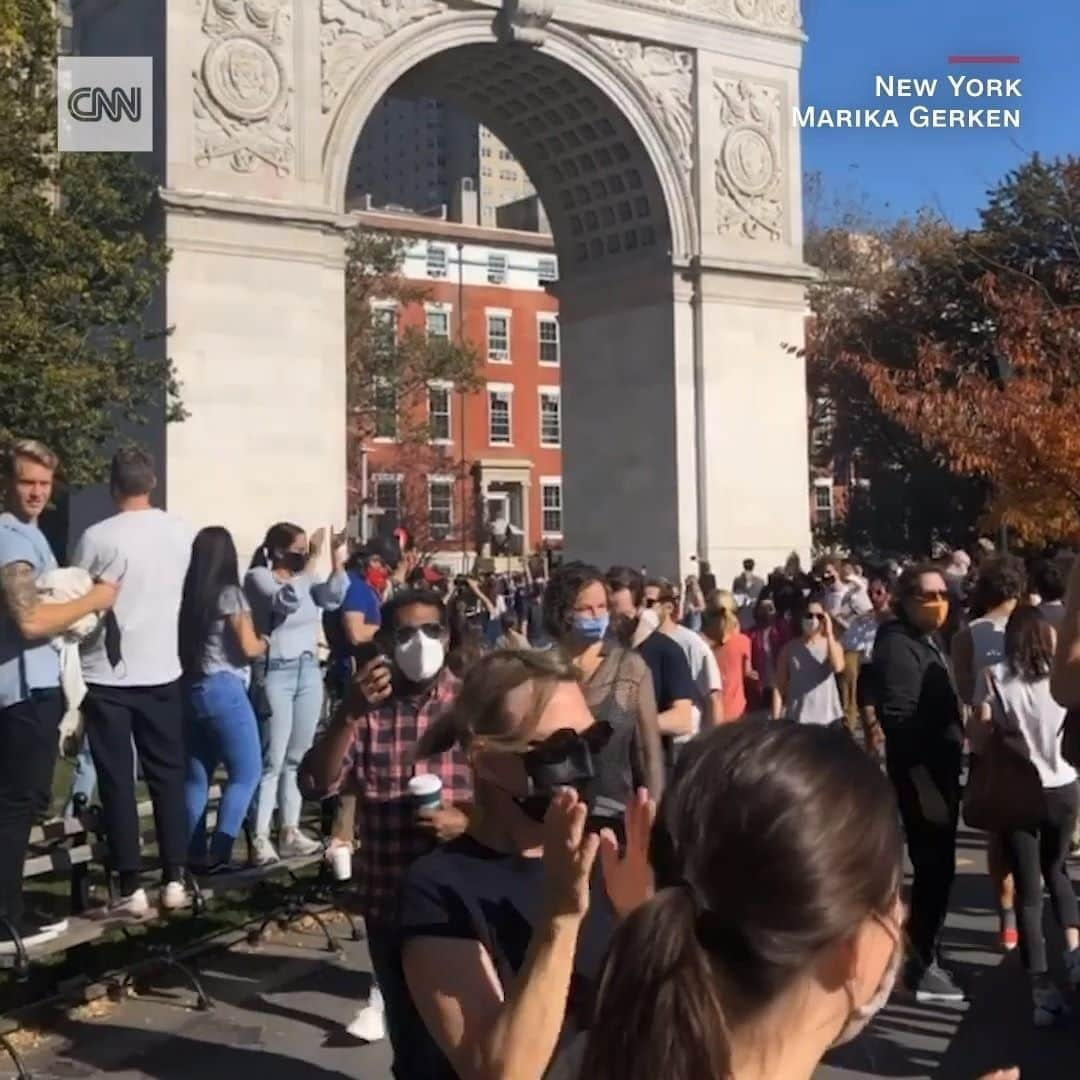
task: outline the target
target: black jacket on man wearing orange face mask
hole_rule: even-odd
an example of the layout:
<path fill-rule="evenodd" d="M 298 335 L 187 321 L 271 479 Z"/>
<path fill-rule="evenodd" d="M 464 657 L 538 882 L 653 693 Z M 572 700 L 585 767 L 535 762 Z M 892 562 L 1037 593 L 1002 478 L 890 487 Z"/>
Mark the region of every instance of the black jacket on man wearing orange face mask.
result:
<path fill-rule="evenodd" d="M 883 623 L 874 645 L 878 720 L 890 756 L 922 759 L 963 743 L 960 699 L 944 646 L 906 619 Z"/>

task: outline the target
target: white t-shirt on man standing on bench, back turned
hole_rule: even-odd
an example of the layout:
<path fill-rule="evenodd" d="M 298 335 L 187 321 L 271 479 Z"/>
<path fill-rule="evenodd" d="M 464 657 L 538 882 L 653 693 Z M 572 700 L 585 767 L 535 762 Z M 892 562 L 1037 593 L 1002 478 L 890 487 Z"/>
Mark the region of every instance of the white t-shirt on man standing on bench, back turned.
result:
<path fill-rule="evenodd" d="M 105 626 L 82 646 L 82 674 L 93 686 L 164 686 L 180 677 L 177 624 L 191 529 L 163 510 L 127 510 L 82 535 L 75 565 L 94 578 L 118 581 L 113 607 L 121 661 L 105 650 Z"/>

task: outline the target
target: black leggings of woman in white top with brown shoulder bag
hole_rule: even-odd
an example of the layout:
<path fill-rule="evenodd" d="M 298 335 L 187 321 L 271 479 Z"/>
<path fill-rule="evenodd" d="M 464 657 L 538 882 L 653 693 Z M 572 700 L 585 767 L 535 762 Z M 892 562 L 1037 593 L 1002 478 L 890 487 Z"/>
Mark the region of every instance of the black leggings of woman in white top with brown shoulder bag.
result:
<path fill-rule="evenodd" d="M 1047 973 L 1047 941 L 1042 936 L 1042 882 L 1047 882 L 1054 918 L 1062 928 L 1080 927 L 1076 893 L 1065 868 L 1080 793 L 1077 785 L 1047 791 L 1047 816 L 1034 828 L 1008 833 L 1005 849 L 1016 878 L 1020 908 L 1020 955 L 1032 975 Z"/>

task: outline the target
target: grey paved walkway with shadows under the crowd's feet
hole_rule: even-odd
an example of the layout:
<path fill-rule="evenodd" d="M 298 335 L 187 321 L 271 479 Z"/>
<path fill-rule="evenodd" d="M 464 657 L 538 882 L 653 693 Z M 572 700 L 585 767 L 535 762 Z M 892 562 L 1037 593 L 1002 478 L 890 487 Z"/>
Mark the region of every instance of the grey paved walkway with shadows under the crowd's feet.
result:
<path fill-rule="evenodd" d="M 996 919 L 982 846 L 966 837 L 958 863 L 946 946 L 972 1004 L 930 1008 L 894 999 L 858 1042 L 822 1067 L 819 1080 L 974 1080 L 1003 1065 L 1020 1065 L 1024 1080 L 1080 1078 L 1080 1021 L 1032 1028 L 1017 957 L 993 951 Z M 336 929 L 343 933 L 343 926 Z M 349 943 L 342 963 L 319 946 L 316 934 L 298 934 L 256 951 L 238 946 L 213 955 L 203 964 L 218 1002 L 213 1012 L 190 1011 L 190 993 L 179 986 L 147 993 L 98 1018 L 59 1022 L 55 1038 L 28 1064 L 37 1080 L 389 1080 L 386 1043 L 360 1045 L 342 1029 L 366 987 L 363 943 Z"/>

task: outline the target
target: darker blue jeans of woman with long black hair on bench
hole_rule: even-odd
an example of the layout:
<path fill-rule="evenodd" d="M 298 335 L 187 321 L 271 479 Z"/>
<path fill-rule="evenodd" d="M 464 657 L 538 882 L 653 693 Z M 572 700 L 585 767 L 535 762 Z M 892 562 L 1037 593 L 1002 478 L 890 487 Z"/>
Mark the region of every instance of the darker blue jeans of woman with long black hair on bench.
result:
<path fill-rule="evenodd" d="M 247 688 L 231 672 L 215 672 L 193 683 L 187 700 L 188 853 L 197 861 L 206 858 L 206 797 L 214 770 L 224 761 L 229 780 L 217 809 L 210 861 L 228 862 L 262 774 L 258 721 Z"/>

